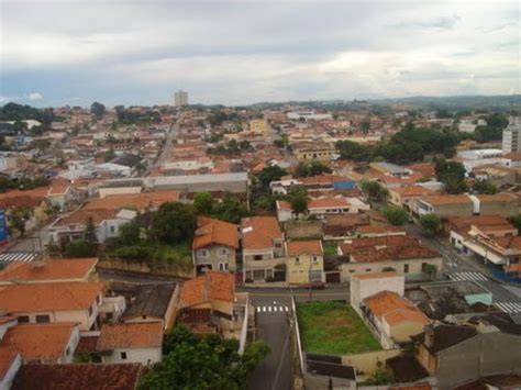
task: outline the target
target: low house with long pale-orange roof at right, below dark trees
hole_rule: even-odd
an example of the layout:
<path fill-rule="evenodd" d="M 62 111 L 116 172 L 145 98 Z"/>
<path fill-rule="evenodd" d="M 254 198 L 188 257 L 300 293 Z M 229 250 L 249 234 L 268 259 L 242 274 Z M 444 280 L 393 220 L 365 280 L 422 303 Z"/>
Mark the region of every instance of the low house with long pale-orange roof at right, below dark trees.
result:
<path fill-rule="evenodd" d="M 418 201 L 420 216 L 424 214 L 436 214 L 444 219 L 448 216 L 469 216 L 474 213 L 474 203 L 466 194 L 432 194 Z"/>

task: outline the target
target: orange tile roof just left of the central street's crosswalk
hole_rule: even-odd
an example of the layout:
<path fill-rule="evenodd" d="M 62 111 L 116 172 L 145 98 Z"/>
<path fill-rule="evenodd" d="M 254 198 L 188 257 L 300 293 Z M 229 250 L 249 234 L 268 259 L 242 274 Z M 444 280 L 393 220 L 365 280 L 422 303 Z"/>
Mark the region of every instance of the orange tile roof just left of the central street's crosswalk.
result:
<path fill-rule="evenodd" d="M 235 297 L 235 277 L 232 274 L 209 270 L 184 282 L 179 301 L 182 308 L 214 300 L 232 302 Z"/>

